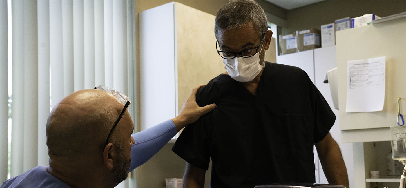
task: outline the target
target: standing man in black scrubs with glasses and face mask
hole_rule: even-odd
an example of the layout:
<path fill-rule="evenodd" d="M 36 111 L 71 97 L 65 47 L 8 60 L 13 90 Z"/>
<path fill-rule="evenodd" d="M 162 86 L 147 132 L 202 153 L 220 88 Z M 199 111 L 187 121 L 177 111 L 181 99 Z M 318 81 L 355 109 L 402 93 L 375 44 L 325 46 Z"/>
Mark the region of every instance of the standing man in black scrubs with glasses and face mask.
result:
<path fill-rule="evenodd" d="M 215 35 L 227 72 L 196 96 L 200 106 L 217 108 L 186 127 L 172 149 L 186 160 L 184 186 L 204 186 L 209 158 L 212 188 L 314 183 L 315 145 L 328 182 L 348 188 L 326 100 L 300 68 L 264 62 L 272 31 L 261 6 L 227 3 L 216 15 Z"/>

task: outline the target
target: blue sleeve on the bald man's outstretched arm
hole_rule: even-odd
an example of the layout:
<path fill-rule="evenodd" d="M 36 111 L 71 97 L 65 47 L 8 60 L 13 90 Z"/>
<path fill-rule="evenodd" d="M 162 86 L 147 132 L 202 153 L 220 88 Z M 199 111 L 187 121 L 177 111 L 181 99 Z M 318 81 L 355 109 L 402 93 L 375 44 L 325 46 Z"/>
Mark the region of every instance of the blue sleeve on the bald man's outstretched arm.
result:
<path fill-rule="evenodd" d="M 129 171 L 136 169 L 152 158 L 176 133 L 175 124 L 172 120 L 167 120 L 132 135 L 135 142 L 131 147 L 131 167 Z"/>

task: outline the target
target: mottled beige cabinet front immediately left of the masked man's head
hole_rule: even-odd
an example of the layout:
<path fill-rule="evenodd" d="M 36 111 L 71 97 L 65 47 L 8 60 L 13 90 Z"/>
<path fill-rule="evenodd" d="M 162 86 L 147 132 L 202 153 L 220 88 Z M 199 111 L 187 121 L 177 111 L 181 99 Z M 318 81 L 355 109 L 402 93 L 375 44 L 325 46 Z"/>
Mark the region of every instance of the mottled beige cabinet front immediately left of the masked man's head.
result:
<path fill-rule="evenodd" d="M 224 73 L 222 58 L 216 51 L 214 15 L 184 4 L 176 6 L 178 110 L 190 92 Z"/>

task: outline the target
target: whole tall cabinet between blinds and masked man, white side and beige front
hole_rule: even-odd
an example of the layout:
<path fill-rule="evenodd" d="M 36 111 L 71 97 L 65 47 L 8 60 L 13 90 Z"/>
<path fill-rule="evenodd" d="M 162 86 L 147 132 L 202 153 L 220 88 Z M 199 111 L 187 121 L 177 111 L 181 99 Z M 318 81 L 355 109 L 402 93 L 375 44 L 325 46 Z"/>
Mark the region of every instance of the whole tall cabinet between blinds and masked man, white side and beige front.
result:
<path fill-rule="evenodd" d="M 225 71 L 214 19 L 178 2 L 140 13 L 141 130 L 175 118 L 192 88 Z"/>

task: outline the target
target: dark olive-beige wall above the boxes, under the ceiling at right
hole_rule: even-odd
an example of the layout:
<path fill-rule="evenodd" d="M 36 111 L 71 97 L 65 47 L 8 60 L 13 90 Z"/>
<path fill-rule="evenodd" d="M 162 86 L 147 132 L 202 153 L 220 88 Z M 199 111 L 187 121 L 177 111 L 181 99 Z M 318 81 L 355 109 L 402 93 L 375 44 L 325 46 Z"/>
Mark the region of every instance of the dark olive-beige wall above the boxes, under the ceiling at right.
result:
<path fill-rule="evenodd" d="M 287 11 L 288 27 L 282 34 L 304 28 L 317 28 L 344 17 L 375 14 L 380 17 L 406 11 L 405 0 L 326 0 Z"/>

